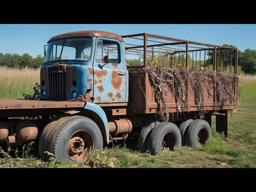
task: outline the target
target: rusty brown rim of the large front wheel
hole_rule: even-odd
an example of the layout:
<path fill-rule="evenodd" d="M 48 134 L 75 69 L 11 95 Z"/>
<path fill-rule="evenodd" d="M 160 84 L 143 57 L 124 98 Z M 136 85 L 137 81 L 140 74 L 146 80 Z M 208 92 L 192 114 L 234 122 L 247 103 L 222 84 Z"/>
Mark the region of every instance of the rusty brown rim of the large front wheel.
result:
<path fill-rule="evenodd" d="M 71 160 L 84 161 L 91 150 L 94 150 L 94 138 L 86 130 L 76 132 L 68 142 L 68 155 Z"/>

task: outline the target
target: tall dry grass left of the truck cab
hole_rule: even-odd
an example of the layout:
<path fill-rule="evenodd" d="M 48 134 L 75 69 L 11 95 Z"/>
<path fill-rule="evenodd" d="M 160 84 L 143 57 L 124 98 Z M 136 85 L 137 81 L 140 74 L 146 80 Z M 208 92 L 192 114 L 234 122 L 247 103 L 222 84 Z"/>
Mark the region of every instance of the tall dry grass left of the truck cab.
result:
<path fill-rule="evenodd" d="M 0 98 L 24 98 L 23 93 L 33 93 L 36 82 L 40 83 L 40 68 L 0 66 Z"/>

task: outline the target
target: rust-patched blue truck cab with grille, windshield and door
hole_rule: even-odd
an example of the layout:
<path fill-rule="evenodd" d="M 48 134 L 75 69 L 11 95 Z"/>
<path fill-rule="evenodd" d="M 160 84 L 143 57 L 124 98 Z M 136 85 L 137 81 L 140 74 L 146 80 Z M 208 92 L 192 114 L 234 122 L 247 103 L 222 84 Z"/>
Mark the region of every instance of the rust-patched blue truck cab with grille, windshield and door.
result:
<path fill-rule="evenodd" d="M 54 36 L 40 73 L 42 100 L 82 95 L 100 106 L 127 105 L 128 70 L 118 34 L 91 30 Z"/>

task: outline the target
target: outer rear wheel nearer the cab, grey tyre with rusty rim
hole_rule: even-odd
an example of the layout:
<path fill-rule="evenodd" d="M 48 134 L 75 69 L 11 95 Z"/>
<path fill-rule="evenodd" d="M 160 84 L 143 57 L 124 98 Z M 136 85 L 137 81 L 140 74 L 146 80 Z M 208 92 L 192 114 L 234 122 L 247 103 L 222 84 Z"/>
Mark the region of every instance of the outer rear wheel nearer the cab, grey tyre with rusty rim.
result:
<path fill-rule="evenodd" d="M 171 122 L 160 123 L 154 127 L 149 139 L 148 150 L 152 155 L 163 151 L 174 150 L 181 147 L 181 134 L 179 128 Z"/>

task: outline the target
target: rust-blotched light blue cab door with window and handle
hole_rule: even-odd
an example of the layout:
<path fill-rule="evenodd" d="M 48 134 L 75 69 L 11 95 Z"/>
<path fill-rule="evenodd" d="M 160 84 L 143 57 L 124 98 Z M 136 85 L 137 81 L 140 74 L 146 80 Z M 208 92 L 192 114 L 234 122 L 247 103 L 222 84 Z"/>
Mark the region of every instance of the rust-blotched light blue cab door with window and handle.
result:
<path fill-rule="evenodd" d="M 128 72 L 124 69 L 122 44 L 118 40 L 96 38 L 93 67 L 94 103 L 128 102 Z"/>

